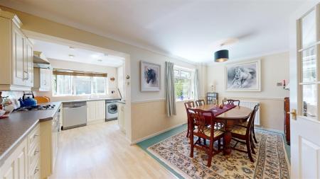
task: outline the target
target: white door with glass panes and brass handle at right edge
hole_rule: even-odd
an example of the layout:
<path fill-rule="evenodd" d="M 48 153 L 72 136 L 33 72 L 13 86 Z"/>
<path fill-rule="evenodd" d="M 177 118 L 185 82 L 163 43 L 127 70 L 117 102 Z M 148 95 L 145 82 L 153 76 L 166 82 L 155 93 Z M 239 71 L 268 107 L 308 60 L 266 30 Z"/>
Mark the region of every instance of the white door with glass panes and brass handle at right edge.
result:
<path fill-rule="evenodd" d="M 318 4 L 306 3 L 291 18 L 290 108 L 293 111 L 290 124 L 292 178 L 320 178 L 319 8 Z"/>

